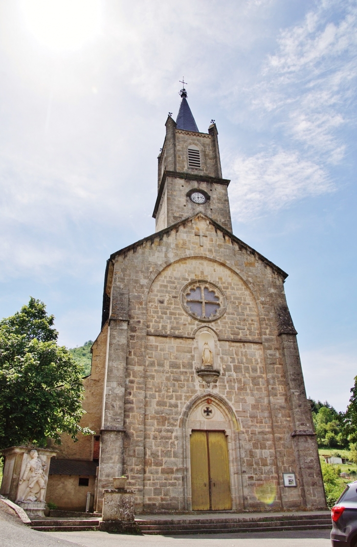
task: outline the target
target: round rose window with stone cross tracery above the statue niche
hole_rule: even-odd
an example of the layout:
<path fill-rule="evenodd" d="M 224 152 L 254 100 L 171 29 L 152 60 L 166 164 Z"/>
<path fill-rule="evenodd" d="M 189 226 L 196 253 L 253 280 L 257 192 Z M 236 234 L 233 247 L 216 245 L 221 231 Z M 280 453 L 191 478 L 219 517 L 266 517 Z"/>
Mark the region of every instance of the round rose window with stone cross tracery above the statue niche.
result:
<path fill-rule="evenodd" d="M 186 285 L 181 292 L 181 302 L 185 311 L 199 321 L 215 321 L 226 307 L 221 290 L 204 281 Z"/>

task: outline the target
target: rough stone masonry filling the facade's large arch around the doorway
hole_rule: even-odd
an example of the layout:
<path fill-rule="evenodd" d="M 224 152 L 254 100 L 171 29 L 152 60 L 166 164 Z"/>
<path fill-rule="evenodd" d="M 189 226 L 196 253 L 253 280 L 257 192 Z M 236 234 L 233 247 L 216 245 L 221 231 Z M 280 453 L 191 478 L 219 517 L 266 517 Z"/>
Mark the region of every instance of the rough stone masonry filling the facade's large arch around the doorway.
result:
<path fill-rule="evenodd" d="M 260 508 L 263 504 L 255 489 L 277 485 L 279 477 L 257 306 L 239 276 L 221 264 L 199 258 L 168 266 L 152 284 L 148 298 L 148 332 L 161 336 L 153 336 L 147 344 L 144 504 L 147 510 L 185 508 L 179 417 L 205 386 L 195 374 L 200 363 L 195 362 L 194 340 L 186 338 L 193 335 L 198 322 L 182 310 L 179 296 L 180 289 L 195 278 L 215 283 L 227 296 L 227 312 L 206 325 L 218 335 L 215 365 L 221 371 L 211 389 L 230 402 L 241 424 L 243 508 Z M 286 404 L 282 418 L 290 432 Z M 296 468 L 291 438 L 284 446 L 284 459 L 288 469 Z M 301 505 L 298 490 L 290 489 L 289 502 Z"/>

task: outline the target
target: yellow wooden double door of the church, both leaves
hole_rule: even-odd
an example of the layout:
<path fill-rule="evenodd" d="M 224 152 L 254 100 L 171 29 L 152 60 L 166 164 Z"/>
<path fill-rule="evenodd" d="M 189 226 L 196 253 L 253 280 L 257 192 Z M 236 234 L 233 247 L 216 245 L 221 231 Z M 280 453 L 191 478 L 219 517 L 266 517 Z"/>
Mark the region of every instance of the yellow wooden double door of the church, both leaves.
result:
<path fill-rule="evenodd" d="M 193 511 L 232 508 L 224 431 L 193 430 L 190 438 Z"/>

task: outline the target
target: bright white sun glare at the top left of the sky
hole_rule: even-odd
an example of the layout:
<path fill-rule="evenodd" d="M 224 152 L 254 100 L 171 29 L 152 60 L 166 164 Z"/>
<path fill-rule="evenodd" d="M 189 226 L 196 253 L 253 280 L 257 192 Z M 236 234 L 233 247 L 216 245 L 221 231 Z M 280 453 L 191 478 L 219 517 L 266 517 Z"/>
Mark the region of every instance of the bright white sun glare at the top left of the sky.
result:
<path fill-rule="evenodd" d="M 80 48 L 102 26 L 100 0 L 23 0 L 21 7 L 28 30 L 55 50 Z"/>

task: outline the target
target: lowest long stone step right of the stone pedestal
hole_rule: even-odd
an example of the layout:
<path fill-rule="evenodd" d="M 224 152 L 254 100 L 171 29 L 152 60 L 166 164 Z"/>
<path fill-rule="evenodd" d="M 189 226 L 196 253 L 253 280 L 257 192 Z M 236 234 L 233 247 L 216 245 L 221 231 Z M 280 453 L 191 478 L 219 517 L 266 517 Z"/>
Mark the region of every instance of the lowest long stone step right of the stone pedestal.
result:
<path fill-rule="evenodd" d="M 275 526 L 261 526 L 261 527 L 215 527 L 215 528 L 206 528 L 204 525 L 199 528 L 185 528 L 184 526 L 181 529 L 151 529 L 151 530 L 141 530 L 141 532 L 148 536 L 191 536 L 191 534 L 229 534 L 229 533 L 243 533 L 243 532 L 285 532 L 289 530 L 325 530 L 331 529 L 330 524 L 306 524 L 305 525 L 275 525 Z M 139 526 L 141 529 L 141 526 Z"/>

